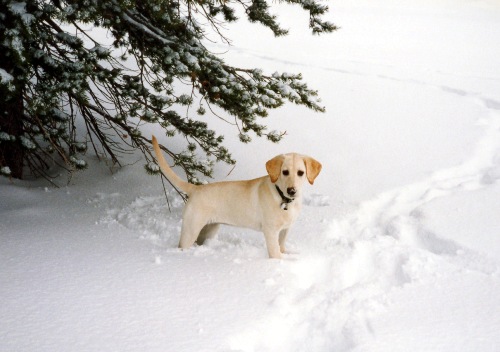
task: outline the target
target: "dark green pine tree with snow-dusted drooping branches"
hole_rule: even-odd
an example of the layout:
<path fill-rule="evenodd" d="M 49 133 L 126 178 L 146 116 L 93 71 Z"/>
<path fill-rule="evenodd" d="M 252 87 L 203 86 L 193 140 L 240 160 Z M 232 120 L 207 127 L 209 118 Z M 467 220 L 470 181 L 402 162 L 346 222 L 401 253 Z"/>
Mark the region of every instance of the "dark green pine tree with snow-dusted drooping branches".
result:
<path fill-rule="evenodd" d="M 321 20 L 328 9 L 316 0 L 285 2 L 309 12 L 313 33 L 336 29 Z M 214 107 L 235 119 L 242 142 L 251 134 L 280 140 L 258 119 L 285 101 L 323 111 L 300 74 L 231 67 L 207 50 L 205 31 L 226 40 L 221 25 L 238 20 L 238 6 L 251 22 L 287 34 L 266 0 L 0 0 L 0 173 L 22 178 L 24 165 L 49 179 L 50 163 L 84 169 L 88 147 L 117 164 L 138 148 L 155 172 L 140 130 L 154 123 L 186 137 L 185 151 L 163 149 L 193 181 L 198 172 L 209 176 L 214 161 L 235 162 L 200 117 L 216 115 Z M 95 37 L 97 29 L 109 42 Z M 176 92 L 176 82 L 192 93 Z"/>

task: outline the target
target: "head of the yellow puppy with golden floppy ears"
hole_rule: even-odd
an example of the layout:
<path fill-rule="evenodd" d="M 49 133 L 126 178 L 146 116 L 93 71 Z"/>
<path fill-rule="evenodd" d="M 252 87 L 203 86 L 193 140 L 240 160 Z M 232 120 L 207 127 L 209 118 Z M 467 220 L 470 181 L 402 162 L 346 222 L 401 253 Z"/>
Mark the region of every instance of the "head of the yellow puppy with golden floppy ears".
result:
<path fill-rule="evenodd" d="M 293 198 L 300 195 L 306 178 L 311 185 L 314 183 L 321 171 L 321 164 L 310 156 L 290 153 L 272 158 L 266 163 L 266 169 L 271 182 Z"/>

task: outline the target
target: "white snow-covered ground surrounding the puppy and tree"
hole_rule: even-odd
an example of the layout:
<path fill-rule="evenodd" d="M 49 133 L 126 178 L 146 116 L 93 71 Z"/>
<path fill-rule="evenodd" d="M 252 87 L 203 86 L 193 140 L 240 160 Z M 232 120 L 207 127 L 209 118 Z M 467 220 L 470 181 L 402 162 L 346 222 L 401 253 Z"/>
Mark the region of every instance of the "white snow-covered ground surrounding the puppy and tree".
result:
<path fill-rule="evenodd" d="M 331 35 L 286 8 L 288 37 L 228 32 L 228 61 L 302 72 L 327 108 L 272 112 L 278 145 L 221 126 L 239 163 L 218 180 L 323 163 L 290 253 L 227 227 L 181 252 L 183 203 L 138 157 L 0 179 L 0 351 L 500 350 L 500 4 L 329 5 Z"/>

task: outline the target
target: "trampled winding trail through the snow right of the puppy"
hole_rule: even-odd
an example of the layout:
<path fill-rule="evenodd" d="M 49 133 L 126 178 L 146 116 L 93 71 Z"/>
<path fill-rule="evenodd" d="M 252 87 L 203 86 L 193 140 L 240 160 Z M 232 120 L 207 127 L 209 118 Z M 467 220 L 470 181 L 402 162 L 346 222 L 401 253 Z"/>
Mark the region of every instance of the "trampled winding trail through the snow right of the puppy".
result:
<path fill-rule="evenodd" d="M 250 327 L 236 340 L 251 343 L 252 336 L 261 336 L 253 350 L 273 350 L 276 336 L 295 346 L 292 351 L 352 350 L 360 336 L 370 336 L 370 320 L 385 311 L 391 292 L 432 285 L 442 277 L 459 278 L 463 271 L 499 275 L 498 263 L 427 229 L 420 209 L 439 197 L 500 180 L 500 104 L 434 87 L 484 108 L 479 121 L 483 135 L 471 157 L 361 203 L 322 236 L 306 234 L 300 258 L 285 263 L 295 280 L 286 287 L 276 285 L 268 319 L 272 324 Z"/>

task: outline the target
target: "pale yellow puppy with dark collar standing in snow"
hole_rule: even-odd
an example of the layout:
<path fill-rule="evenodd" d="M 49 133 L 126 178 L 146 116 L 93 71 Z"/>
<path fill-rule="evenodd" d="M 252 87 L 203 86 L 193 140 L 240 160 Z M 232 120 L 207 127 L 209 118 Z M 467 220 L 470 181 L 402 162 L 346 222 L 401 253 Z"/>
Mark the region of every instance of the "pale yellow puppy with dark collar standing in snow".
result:
<path fill-rule="evenodd" d="M 300 212 L 302 185 L 306 179 L 314 183 L 321 171 L 318 161 L 300 154 L 283 154 L 266 163 L 267 176 L 193 185 L 168 166 L 155 136 L 152 142 L 164 175 L 189 198 L 180 248 L 189 248 L 195 241 L 202 244 L 216 234 L 220 224 L 226 224 L 262 231 L 269 257 L 281 258 L 290 226 Z"/>

